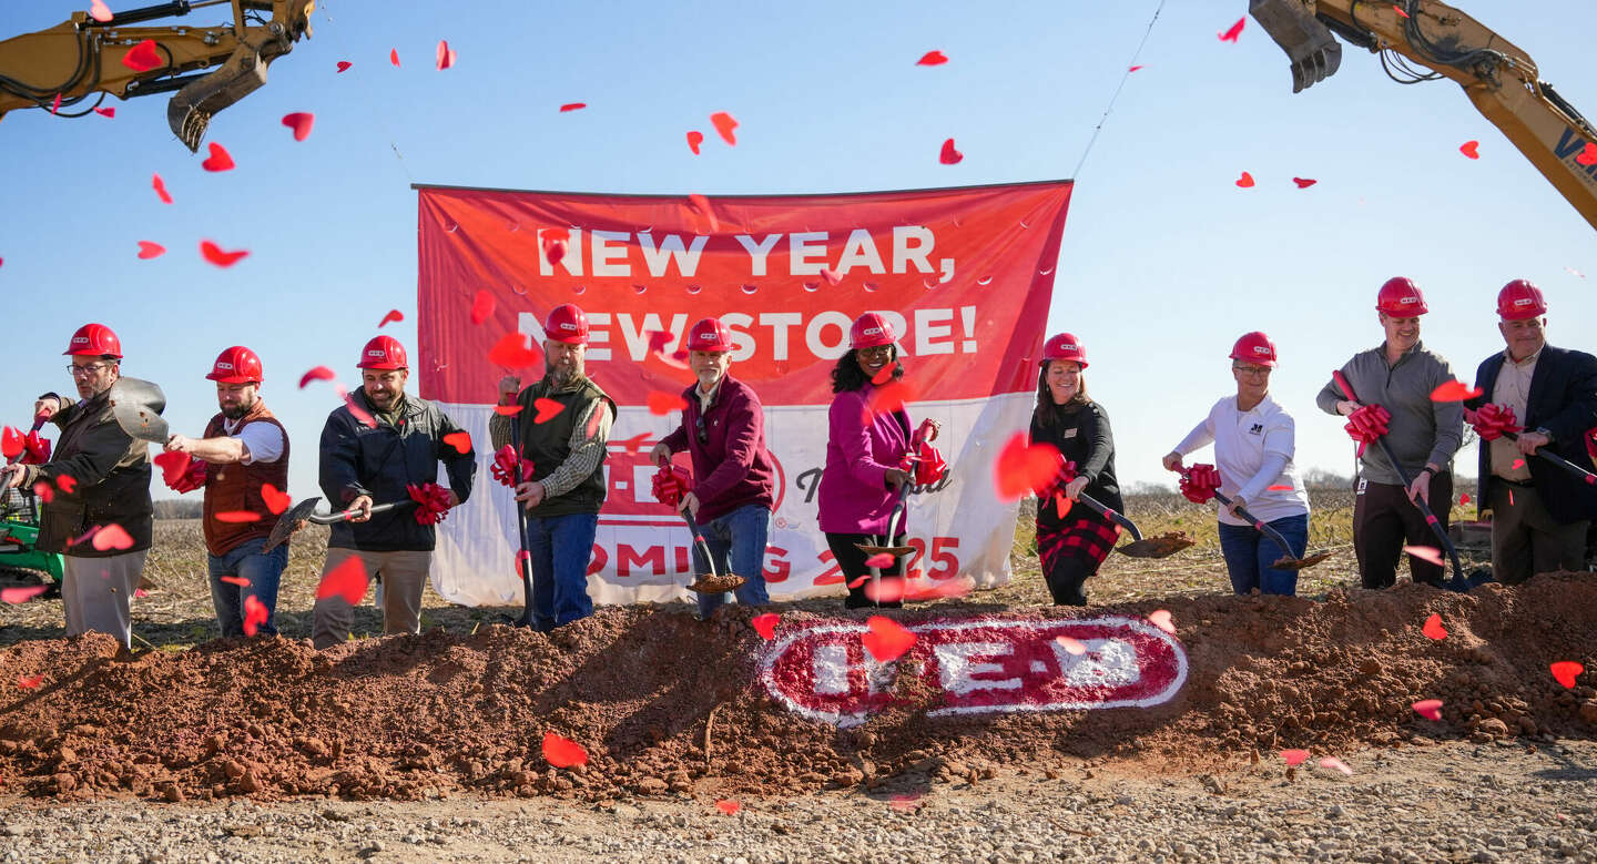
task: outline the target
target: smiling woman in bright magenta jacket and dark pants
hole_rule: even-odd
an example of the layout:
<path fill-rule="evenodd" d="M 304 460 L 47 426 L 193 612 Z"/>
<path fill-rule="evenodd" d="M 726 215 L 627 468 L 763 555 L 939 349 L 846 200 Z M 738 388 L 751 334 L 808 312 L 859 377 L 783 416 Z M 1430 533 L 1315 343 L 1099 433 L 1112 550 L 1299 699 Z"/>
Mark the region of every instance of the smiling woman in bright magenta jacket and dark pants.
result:
<path fill-rule="evenodd" d="M 872 394 L 883 385 L 904 377 L 893 324 L 867 311 L 848 331 L 848 353 L 832 369 L 830 433 L 826 442 L 826 470 L 821 473 L 821 530 L 848 583 L 848 608 L 899 607 L 902 602 L 877 602 L 866 594 L 870 567 L 856 543 L 902 546 L 904 522 L 886 537 L 888 517 L 899 500 L 899 490 L 910 482 L 904 457 L 910 450 L 913 426 L 909 412 L 877 410 Z M 882 575 L 904 575 L 904 559 L 882 567 Z"/>

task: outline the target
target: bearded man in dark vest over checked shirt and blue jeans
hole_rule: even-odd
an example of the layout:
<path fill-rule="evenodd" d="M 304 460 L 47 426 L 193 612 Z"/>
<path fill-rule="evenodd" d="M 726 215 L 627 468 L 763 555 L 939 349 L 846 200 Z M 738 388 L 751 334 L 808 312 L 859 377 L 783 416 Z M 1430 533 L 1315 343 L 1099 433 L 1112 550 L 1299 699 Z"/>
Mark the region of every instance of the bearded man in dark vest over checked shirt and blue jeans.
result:
<path fill-rule="evenodd" d="M 548 632 L 594 613 L 588 562 L 604 506 L 615 401 L 586 374 L 588 315 L 581 308 L 554 307 L 543 337 L 543 378 L 519 394 L 521 378 L 500 378 L 500 406 L 521 406 L 516 447 L 533 465 L 532 479 L 516 484 L 516 500 L 527 508 L 533 626 Z M 561 406 L 553 417 L 549 402 Z M 489 438 L 495 450 L 509 444 L 509 417 L 495 412 Z"/>

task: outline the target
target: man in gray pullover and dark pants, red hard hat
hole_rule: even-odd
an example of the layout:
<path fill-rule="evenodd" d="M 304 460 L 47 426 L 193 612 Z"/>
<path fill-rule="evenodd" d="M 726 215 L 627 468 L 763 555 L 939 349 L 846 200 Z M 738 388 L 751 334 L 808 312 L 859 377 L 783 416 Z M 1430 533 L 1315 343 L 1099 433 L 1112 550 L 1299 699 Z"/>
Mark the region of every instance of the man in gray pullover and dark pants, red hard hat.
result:
<path fill-rule="evenodd" d="M 1335 378 L 1316 398 L 1326 414 L 1351 415 L 1365 406 L 1391 414 L 1386 442 L 1397 457 L 1399 473 L 1375 444 L 1359 457 L 1357 497 L 1353 505 L 1353 549 L 1359 557 L 1364 588 L 1389 588 L 1397 581 L 1397 557 L 1404 545 L 1431 546 L 1436 537 L 1413 505 L 1431 505 L 1440 529 L 1453 500 L 1453 454 L 1463 444 L 1464 409 L 1460 402 L 1433 402 L 1431 391 L 1453 380 L 1447 361 L 1420 343 L 1425 295 L 1402 276 L 1388 279 L 1377 299 L 1386 340 L 1353 355 L 1341 367 L 1359 401 L 1348 399 Z M 1409 486 L 1404 479 L 1409 478 Z M 1442 585 L 1442 565 L 1409 556 L 1413 581 Z"/>

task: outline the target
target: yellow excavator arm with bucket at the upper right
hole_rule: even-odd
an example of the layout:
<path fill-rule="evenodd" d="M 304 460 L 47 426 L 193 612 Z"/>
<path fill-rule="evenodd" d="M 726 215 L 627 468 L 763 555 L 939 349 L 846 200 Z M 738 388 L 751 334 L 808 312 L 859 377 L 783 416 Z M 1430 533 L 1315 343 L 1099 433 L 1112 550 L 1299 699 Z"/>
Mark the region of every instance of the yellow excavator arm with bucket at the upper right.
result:
<path fill-rule="evenodd" d="M 1380 54 L 1399 83 L 1458 81 L 1476 109 L 1597 228 L 1597 160 L 1587 153 L 1597 131 L 1541 81 L 1530 56 L 1479 21 L 1433 0 L 1249 0 L 1247 11 L 1287 53 L 1292 93 L 1337 72 L 1341 45 L 1332 32 Z"/>

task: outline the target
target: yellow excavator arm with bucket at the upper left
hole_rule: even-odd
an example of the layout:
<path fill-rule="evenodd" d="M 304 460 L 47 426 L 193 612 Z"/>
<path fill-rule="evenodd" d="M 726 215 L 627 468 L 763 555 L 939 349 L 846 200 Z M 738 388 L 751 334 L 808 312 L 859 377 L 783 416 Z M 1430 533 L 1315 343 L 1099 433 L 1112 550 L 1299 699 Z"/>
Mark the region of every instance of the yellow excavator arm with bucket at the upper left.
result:
<path fill-rule="evenodd" d="M 133 27 L 217 5 L 233 8 L 230 27 Z M 176 89 L 166 121 L 184 145 L 198 150 L 211 117 L 267 83 L 267 65 L 300 37 L 310 38 L 315 8 L 315 0 L 174 0 L 115 13 L 110 21 L 73 13 L 48 30 L 0 42 L 0 117 L 30 107 L 62 113 L 94 94 L 128 99 Z M 141 72 L 123 64 L 145 40 L 155 43 L 160 65 Z M 212 65 L 220 69 L 200 72 Z"/>

